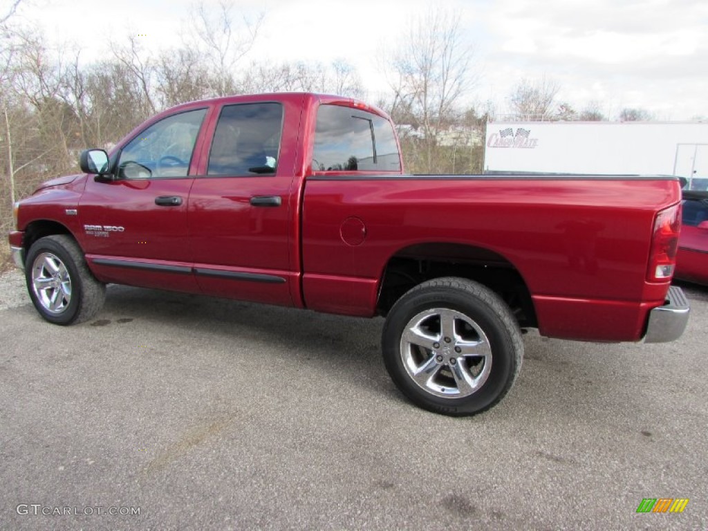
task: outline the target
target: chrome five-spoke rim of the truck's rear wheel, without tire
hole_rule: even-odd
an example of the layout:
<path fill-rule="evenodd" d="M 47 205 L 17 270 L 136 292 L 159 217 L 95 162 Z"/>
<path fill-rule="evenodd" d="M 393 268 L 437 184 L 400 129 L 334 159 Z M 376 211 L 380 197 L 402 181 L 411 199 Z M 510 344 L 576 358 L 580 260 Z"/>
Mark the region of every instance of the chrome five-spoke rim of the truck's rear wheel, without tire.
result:
<path fill-rule="evenodd" d="M 492 364 L 489 339 L 479 324 L 447 308 L 427 309 L 406 324 L 401 358 L 413 382 L 445 398 L 479 391 Z"/>

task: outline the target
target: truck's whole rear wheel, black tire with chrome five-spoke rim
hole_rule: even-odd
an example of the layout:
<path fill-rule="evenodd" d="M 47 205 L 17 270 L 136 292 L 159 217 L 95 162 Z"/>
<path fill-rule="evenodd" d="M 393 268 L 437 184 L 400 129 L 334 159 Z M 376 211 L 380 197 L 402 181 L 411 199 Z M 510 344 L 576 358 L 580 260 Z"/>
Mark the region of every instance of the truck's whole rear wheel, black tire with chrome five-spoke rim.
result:
<path fill-rule="evenodd" d="M 524 347 L 516 320 L 496 293 L 446 277 L 413 287 L 394 304 L 382 349 L 389 375 L 414 404 L 469 416 L 511 389 Z"/>

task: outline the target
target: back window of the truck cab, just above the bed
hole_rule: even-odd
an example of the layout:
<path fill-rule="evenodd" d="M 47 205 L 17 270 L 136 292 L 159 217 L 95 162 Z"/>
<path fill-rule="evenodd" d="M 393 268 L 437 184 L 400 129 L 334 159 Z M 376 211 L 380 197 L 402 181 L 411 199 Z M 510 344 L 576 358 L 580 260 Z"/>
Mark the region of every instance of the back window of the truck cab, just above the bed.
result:
<path fill-rule="evenodd" d="M 400 171 L 388 120 L 362 110 L 320 105 L 312 155 L 314 171 Z"/>

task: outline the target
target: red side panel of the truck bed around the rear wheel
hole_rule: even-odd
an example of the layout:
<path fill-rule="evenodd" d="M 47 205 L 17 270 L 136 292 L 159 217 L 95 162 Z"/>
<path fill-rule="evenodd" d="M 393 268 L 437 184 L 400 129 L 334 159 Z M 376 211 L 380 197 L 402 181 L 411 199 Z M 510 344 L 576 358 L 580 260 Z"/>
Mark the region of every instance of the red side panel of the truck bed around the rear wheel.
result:
<path fill-rule="evenodd" d="M 338 275 L 343 282 L 379 279 L 389 258 L 406 247 L 440 241 L 472 245 L 503 256 L 519 270 L 542 333 L 637 339 L 644 303 L 662 304 L 668 288 L 667 281 L 646 282 L 644 276 L 655 212 L 678 201 L 675 185 L 529 178 L 308 181 L 304 274 Z M 338 220 L 352 215 L 367 226 L 365 244 L 358 247 L 336 237 Z M 306 295 L 309 304 L 326 293 Z M 585 301 L 578 317 L 565 313 L 569 299 Z M 623 303 L 619 314 L 618 303 Z M 608 323 L 608 310 L 622 319 Z"/>

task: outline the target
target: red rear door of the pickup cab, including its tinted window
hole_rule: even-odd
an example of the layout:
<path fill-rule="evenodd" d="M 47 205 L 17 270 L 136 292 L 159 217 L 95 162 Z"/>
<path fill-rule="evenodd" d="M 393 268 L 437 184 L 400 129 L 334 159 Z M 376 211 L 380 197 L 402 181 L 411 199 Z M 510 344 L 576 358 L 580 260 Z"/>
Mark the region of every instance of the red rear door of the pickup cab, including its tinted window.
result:
<path fill-rule="evenodd" d="M 291 289 L 299 291 L 293 190 L 301 110 L 302 98 L 219 108 L 188 205 L 202 292 L 293 304 Z"/>

